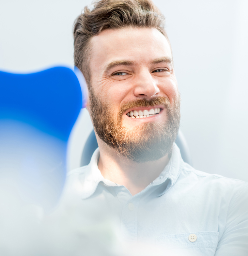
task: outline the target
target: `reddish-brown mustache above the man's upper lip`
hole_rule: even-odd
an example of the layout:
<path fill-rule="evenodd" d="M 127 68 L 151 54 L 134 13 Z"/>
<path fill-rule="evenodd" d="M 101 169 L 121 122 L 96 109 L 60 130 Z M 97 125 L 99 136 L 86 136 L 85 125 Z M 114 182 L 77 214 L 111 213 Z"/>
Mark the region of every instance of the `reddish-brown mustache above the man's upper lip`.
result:
<path fill-rule="evenodd" d="M 120 115 L 122 115 L 129 108 L 154 107 L 156 105 L 164 105 L 165 108 L 170 108 L 171 107 L 170 101 L 167 98 L 161 97 L 161 96 L 156 96 L 156 97 L 151 98 L 151 99 L 146 99 L 146 98 L 136 99 L 134 101 L 124 103 L 123 105 L 121 105 L 119 113 L 120 113 Z"/>

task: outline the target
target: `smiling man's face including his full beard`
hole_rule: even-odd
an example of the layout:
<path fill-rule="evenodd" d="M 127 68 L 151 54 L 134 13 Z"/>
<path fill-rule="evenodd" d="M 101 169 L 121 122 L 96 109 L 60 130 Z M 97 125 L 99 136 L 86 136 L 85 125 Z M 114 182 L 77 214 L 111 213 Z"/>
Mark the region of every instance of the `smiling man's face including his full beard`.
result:
<path fill-rule="evenodd" d="M 99 137 L 137 162 L 169 153 L 180 114 L 166 38 L 155 28 L 107 29 L 91 47 L 88 110 Z"/>

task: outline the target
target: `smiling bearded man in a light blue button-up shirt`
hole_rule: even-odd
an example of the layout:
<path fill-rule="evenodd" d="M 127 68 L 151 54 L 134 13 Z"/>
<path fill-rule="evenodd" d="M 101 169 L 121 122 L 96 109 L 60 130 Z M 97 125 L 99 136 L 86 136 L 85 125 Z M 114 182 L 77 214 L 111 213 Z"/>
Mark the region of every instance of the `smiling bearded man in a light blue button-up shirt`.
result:
<path fill-rule="evenodd" d="M 77 18 L 99 149 L 69 173 L 62 204 L 166 255 L 248 255 L 248 184 L 195 170 L 174 144 L 180 97 L 163 21 L 150 0 L 102 0 Z"/>

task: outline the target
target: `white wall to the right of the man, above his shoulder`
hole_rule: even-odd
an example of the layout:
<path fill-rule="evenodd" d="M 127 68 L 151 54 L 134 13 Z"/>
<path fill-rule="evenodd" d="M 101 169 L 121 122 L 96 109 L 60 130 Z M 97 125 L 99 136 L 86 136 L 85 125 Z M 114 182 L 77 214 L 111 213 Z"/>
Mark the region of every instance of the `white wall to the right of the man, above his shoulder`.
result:
<path fill-rule="evenodd" d="M 248 181 L 248 2 L 163 6 L 195 168 Z"/>

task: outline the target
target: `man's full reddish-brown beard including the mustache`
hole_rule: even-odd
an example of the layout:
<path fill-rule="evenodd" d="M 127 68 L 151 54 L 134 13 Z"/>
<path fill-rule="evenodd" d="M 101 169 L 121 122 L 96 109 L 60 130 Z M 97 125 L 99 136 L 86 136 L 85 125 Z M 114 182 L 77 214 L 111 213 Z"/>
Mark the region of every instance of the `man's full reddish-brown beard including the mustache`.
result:
<path fill-rule="evenodd" d="M 91 117 L 95 132 L 115 151 L 136 163 L 156 161 L 170 154 L 180 125 L 180 96 L 178 94 L 172 108 L 167 98 L 158 96 L 152 99 L 136 99 L 121 105 L 116 118 L 116 111 L 111 103 L 101 101 L 93 90 L 89 93 Z M 132 130 L 122 125 L 124 112 L 134 107 L 153 107 L 163 105 L 167 114 L 164 123 L 147 122 Z"/>

